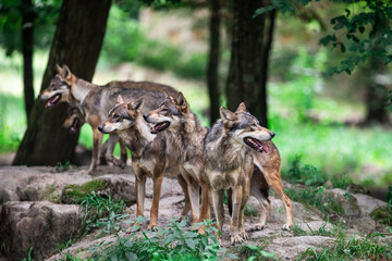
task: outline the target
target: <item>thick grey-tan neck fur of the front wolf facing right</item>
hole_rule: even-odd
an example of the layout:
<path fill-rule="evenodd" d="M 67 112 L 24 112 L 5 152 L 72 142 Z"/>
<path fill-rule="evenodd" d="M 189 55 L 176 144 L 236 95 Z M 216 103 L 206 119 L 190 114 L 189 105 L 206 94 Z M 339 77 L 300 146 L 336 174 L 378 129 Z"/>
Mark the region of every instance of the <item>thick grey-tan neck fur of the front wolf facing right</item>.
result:
<path fill-rule="evenodd" d="M 242 165 L 246 157 L 252 157 L 250 150 L 234 140 L 223 122 L 218 121 L 205 139 L 206 164 L 220 171 L 231 171 Z"/>

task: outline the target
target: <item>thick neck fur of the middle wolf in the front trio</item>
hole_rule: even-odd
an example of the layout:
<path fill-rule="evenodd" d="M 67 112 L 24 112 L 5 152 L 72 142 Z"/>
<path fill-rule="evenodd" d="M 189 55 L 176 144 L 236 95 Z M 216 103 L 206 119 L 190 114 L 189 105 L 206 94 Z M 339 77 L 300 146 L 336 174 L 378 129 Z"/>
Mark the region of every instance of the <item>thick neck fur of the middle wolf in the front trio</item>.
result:
<path fill-rule="evenodd" d="M 189 112 L 180 116 L 180 124 L 176 128 L 168 129 L 168 145 L 182 162 L 194 157 L 203 157 L 204 139 L 207 128 L 203 126 L 197 116 Z"/>

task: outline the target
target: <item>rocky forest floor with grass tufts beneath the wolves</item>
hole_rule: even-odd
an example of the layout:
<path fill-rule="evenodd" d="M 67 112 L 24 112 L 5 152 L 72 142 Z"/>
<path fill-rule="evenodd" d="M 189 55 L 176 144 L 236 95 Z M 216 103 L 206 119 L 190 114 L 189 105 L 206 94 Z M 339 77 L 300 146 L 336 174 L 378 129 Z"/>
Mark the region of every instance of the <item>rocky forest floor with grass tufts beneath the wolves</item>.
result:
<path fill-rule="evenodd" d="M 27 258 L 29 244 L 34 245 L 33 253 L 39 259 L 70 260 L 70 257 L 73 257 L 73 260 L 77 260 L 77 257 L 78 260 L 85 260 L 91 256 L 93 249 L 97 246 L 101 247 L 102 244 L 110 243 L 115 245 L 119 238 L 114 235 L 125 237 L 126 234 L 123 231 L 130 227 L 126 222 L 119 222 L 121 229 L 112 234 L 103 233 L 103 227 L 96 228 L 87 235 L 71 235 L 71 237 L 65 235 L 73 229 L 72 226 L 74 225 L 69 215 L 72 212 L 69 208 L 74 204 L 64 204 L 63 202 L 63 188 L 65 186 L 103 179 L 108 182 L 107 184 L 112 184 L 111 186 L 107 185 L 106 189 L 112 190 L 107 191 L 107 194 L 112 195 L 113 199 L 119 199 L 118 195 L 123 195 L 127 199 L 131 198 L 131 201 L 134 201 L 135 198 L 135 190 L 133 189 L 135 177 L 132 167 L 127 166 L 125 170 L 120 170 L 113 166 L 99 166 L 94 175 L 88 175 L 85 171 L 86 167 L 68 165 L 59 165 L 58 167 L 0 167 L 0 224 L 2 224 L 0 225 L 0 239 L 3 240 L 2 252 L 11 253 L 10 260 L 20 260 L 23 258 L 23 253 L 26 254 L 24 258 Z M 289 183 L 284 183 L 284 186 L 298 191 L 304 189 L 304 186 Z M 146 217 L 149 216 L 152 183 L 148 178 L 144 212 Z M 342 250 L 340 258 L 388 260 L 392 257 L 390 256 L 391 229 L 383 223 L 384 220 L 375 219 L 372 214 L 377 209 L 385 209 L 387 211 L 387 202 L 360 192 L 336 188 L 326 188 L 323 194 L 332 197 L 334 202 L 339 203 L 344 211 L 338 216 L 328 215 L 309 203 L 293 200 L 295 226 L 291 231 L 282 229 L 285 220 L 284 208 L 273 195 L 270 197 L 271 212 L 267 227 L 262 231 L 255 229 L 259 215 L 259 204 L 255 198 L 250 197 L 245 219 L 245 227 L 249 238 L 245 244 L 235 247 L 230 244 L 229 215 L 225 208 L 226 216 L 222 232 L 222 246 L 226 248 L 225 251 L 237 254 L 242 260 L 248 257 L 256 257 L 259 260 L 268 257 L 271 260 L 315 259 L 317 254 L 327 254 L 329 251 L 339 252 L 339 249 L 346 249 Z M 180 216 L 183 207 L 184 197 L 176 179 L 174 177 L 163 178 L 159 225 L 167 227 L 173 217 Z M 76 214 L 81 214 L 81 210 L 77 211 L 76 209 L 75 211 Z M 126 208 L 125 213 L 130 214 L 127 219 L 135 219 L 134 202 Z M 390 212 L 389 214 L 391 215 Z M 60 222 L 62 219 L 64 219 L 63 223 Z M 50 225 L 46 225 L 46 223 Z M 56 227 L 56 224 L 60 227 Z M 25 228 L 21 228 L 24 225 Z M 64 226 L 66 231 L 61 232 Z M 144 228 L 146 226 L 147 222 L 144 223 Z M 47 227 L 45 229 L 51 231 L 52 237 L 46 238 L 46 232 L 40 227 Z M 184 227 L 184 229 L 189 228 Z M 40 232 L 42 235 L 39 235 Z M 15 244 L 21 234 L 23 234 L 23 239 Z M 47 243 L 48 240 L 49 243 Z M 353 247 L 354 245 L 356 247 Z M 38 252 L 44 247 L 52 249 L 44 249 Z M 367 250 L 367 248 L 369 249 Z M 225 259 L 229 260 L 229 258 Z"/>

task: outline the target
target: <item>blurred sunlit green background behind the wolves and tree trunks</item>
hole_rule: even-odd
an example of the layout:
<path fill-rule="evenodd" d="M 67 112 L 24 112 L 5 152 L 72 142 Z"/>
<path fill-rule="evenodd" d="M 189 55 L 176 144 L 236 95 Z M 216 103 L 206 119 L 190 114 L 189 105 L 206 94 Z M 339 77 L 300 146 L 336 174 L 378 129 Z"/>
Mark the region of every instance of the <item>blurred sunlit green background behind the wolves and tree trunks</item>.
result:
<path fill-rule="evenodd" d="M 47 87 L 41 83 L 62 4 L 59 0 L 0 0 L 0 158 L 3 165 L 12 163 L 27 127 L 21 32 L 29 25 L 23 23 L 20 9 L 26 2 L 35 12 L 34 97 Z M 114 79 L 132 79 L 171 85 L 184 92 L 192 110 L 204 124 L 210 125 L 207 83 L 212 2 L 112 2 L 93 83 L 103 85 Z M 280 7 L 274 17 L 269 17 L 268 24 L 271 25 L 271 21 L 274 24 L 268 61 L 268 128 L 277 133 L 273 141 L 281 152 L 283 177 L 304 184 L 331 182 L 335 187 L 344 187 L 356 183 L 367 188 L 388 189 L 392 185 L 388 103 L 391 66 L 369 58 L 348 71 L 334 67 L 347 55 L 347 45 L 342 47 L 339 41 L 347 30 L 344 32 L 343 26 L 336 28 L 339 21 L 331 24 L 331 20 L 346 15 L 347 11 L 354 15 L 370 10 L 360 1 L 354 2 L 311 2 L 306 7 L 295 5 L 292 11 Z M 232 1 L 220 1 L 218 12 L 218 95 L 211 99 L 220 105 L 228 101 L 234 24 L 231 5 Z M 364 30 L 368 27 L 365 25 Z M 320 39 L 326 40 L 329 35 L 338 36 L 338 41 L 320 45 Z M 379 96 L 371 95 L 375 86 Z M 377 112 L 372 109 L 375 104 L 381 107 Z M 91 148 L 89 126 L 83 126 L 78 145 Z"/>

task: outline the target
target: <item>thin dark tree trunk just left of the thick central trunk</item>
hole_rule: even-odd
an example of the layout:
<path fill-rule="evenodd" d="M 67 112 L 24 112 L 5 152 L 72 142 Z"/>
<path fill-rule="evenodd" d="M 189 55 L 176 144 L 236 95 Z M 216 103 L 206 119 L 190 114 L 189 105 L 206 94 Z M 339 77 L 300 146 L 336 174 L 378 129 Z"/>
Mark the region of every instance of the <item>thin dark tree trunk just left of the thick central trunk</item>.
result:
<path fill-rule="evenodd" d="M 207 86 L 210 99 L 210 124 L 212 125 L 219 119 L 219 58 L 220 58 L 220 9 L 221 0 L 211 0 L 210 16 L 210 39 L 209 39 L 209 60 L 207 69 Z"/>

